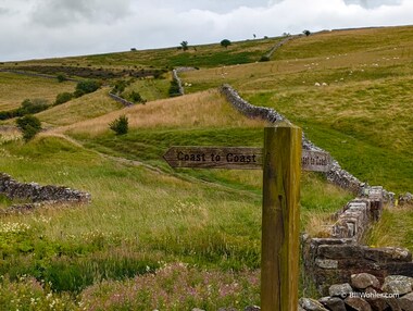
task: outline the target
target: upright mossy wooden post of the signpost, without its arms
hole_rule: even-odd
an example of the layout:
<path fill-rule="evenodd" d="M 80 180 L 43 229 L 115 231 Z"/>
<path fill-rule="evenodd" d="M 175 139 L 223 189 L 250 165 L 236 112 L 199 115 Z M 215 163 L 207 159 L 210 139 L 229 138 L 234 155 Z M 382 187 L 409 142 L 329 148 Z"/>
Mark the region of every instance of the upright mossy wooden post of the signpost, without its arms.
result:
<path fill-rule="evenodd" d="M 301 128 L 264 132 L 261 310 L 298 307 Z"/>

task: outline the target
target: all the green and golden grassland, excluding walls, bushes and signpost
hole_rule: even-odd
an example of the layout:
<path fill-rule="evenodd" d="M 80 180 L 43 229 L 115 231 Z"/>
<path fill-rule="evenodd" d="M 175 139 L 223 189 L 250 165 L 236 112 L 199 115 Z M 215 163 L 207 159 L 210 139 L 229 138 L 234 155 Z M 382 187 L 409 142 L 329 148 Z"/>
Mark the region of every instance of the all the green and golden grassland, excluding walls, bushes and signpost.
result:
<path fill-rule="evenodd" d="M 38 61 L 199 70 L 180 74 L 191 84 L 184 97 L 167 98 L 165 74 L 127 87 L 146 104 L 124 108 L 104 86 L 48 109 L 37 114 L 48 130 L 27 144 L 10 128 L 14 120 L 0 123 L 8 125 L 0 133 L 2 172 L 92 196 L 90 204 L 1 216 L 0 310 L 50 310 L 51 303 L 55 310 L 259 304 L 262 172 L 173 170 L 162 154 L 179 145 L 262 146 L 267 124 L 246 119 L 225 101 L 217 88 L 229 83 L 251 103 L 274 108 L 301 126 L 361 181 L 397 194 L 412 191 L 412 34 L 413 27 L 314 34 L 259 63 L 281 38 L 227 49 L 210 45 L 187 52 L 172 48 Z M 0 84 L 4 109 L 75 88 L 75 83 L 12 77 Z M 121 115 L 128 117 L 129 132 L 116 136 L 109 123 Z M 304 173 L 301 231 L 316 231 L 351 198 L 323 175 Z M 1 209 L 11 203 L 0 197 Z M 413 251 L 411 227 L 411 210 L 387 210 L 367 242 Z M 309 290 L 301 285 L 300 293 Z"/>

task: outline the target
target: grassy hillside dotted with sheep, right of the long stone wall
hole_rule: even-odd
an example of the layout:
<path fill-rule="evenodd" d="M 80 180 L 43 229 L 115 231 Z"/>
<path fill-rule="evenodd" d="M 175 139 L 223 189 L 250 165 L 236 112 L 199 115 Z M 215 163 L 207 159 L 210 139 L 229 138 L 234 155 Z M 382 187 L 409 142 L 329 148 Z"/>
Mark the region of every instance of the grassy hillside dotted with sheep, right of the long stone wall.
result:
<path fill-rule="evenodd" d="M 187 91 L 230 83 L 250 102 L 302 126 L 359 178 L 406 191 L 413 184 L 412 32 L 323 33 L 290 41 L 273 62 L 183 76 L 192 85 Z"/>

